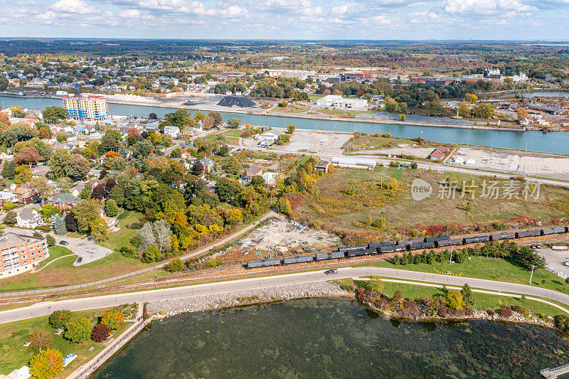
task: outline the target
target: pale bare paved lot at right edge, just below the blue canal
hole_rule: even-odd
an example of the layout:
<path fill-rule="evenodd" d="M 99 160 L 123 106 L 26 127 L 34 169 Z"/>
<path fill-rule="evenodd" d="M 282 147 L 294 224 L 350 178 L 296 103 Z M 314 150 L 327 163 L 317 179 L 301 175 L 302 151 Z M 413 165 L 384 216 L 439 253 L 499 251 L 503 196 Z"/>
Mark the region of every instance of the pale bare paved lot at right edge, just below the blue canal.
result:
<path fill-rule="evenodd" d="M 466 164 L 464 167 L 491 171 L 509 171 L 516 175 L 541 176 L 544 178 L 558 178 L 569 180 L 569 157 L 552 154 L 523 153 L 522 151 L 509 152 L 504 150 L 476 149 L 460 147 L 450 157 L 462 158 L 464 161 L 474 159 L 474 165 Z"/>

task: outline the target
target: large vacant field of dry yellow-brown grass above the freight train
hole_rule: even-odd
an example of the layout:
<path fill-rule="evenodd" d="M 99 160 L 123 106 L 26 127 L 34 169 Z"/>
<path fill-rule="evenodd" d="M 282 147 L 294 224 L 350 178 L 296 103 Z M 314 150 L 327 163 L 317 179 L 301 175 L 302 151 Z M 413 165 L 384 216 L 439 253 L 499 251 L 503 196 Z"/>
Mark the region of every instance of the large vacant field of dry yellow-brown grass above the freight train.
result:
<path fill-rule="evenodd" d="M 432 193 L 429 198 L 415 201 L 411 196 L 411 183 L 419 176 L 430 183 Z M 395 188 L 389 188 L 390 178 L 397 180 Z M 369 220 L 368 216 L 372 220 L 385 218 L 388 233 L 395 231 L 391 228 L 404 230 L 415 228 L 418 224 L 474 225 L 504 222 L 517 216 L 538 218 L 547 223 L 550 218 L 569 215 L 569 191 L 564 188 L 541 186 L 537 200 L 533 197 L 527 200 L 501 198 L 501 195 L 497 199 L 481 198 L 484 180 L 489 183 L 492 179 L 387 167 L 380 167 L 376 171 L 336 169 L 334 173 L 318 179 L 314 191 L 316 195 L 307 195 L 304 205 L 296 211 L 302 218 L 320 220 L 348 230 L 373 230 L 362 224 Z M 459 187 L 454 191 L 454 198 L 452 191 L 442 191 L 440 185 L 450 181 L 455 181 Z M 474 199 L 468 191 L 464 191 L 462 196 L 463 181 L 467 186 L 472 181 L 474 186 L 478 186 L 472 187 Z M 525 183 L 513 183 L 521 186 L 521 193 Z M 496 187 L 505 188 L 510 184 L 510 181 L 497 181 Z M 443 198 L 439 198 L 440 195 Z"/>

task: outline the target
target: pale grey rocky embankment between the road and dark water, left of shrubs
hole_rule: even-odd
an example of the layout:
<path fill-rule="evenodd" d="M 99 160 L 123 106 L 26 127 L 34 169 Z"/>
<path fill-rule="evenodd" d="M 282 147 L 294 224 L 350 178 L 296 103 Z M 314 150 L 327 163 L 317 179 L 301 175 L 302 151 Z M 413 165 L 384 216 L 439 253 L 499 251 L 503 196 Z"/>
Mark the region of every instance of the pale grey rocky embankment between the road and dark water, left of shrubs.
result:
<path fill-rule="evenodd" d="M 147 313 L 150 314 L 153 319 L 164 319 L 186 312 L 209 311 L 230 308 L 232 306 L 262 304 L 272 301 L 302 299 L 307 297 L 353 298 L 353 294 L 329 282 L 291 284 L 264 290 L 235 291 L 226 294 L 154 301 L 147 304 Z"/>

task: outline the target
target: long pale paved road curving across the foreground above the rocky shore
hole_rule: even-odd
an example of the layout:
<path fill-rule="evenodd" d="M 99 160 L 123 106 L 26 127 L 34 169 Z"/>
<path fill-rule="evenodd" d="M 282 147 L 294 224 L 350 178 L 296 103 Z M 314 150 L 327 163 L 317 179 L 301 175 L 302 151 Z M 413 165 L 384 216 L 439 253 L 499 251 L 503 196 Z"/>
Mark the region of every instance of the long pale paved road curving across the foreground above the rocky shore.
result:
<path fill-rule="evenodd" d="M 42 303 L 26 306 L 19 309 L 10 309 L 0 312 L 0 324 L 10 321 L 30 319 L 32 317 L 46 316 L 58 309 L 70 309 L 80 311 L 85 309 L 97 309 L 119 304 L 179 299 L 183 297 L 197 297 L 206 294 L 223 294 L 240 290 L 262 290 L 270 287 L 278 287 L 287 284 L 305 284 L 312 282 L 324 282 L 330 279 L 345 277 L 361 277 L 364 275 L 380 275 L 398 279 L 420 280 L 440 284 L 462 286 L 468 283 L 471 287 L 490 289 L 499 292 L 514 292 L 528 296 L 544 297 L 563 304 L 569 304 L 569 295 L 532 287 L 525 284 L 513 284 L 496 282 L 493 280 L 473 279 L 466 277 L 451 277 L 447 275 L 428 274 L 424 272 L 405 271 L 403 269 L 388 269 L 381 267 L 346 267 L 339 269 L 339 273 L 333 276 L 325 275 L 322 271 L 301 272 L 296 274 L 275 275 L 272 277 L 260 277 L 239 279 L 228 282 L 216 282 L 211 284 L 196 284 L 193 286 L 175 287 L 167 289 L 153 289 L 146 292 L 129 292 L 126 294 L 112 294 L 101 297 L 88 297 L 83 299 L 70 299 L 63 301 L 45 301 Z"/>

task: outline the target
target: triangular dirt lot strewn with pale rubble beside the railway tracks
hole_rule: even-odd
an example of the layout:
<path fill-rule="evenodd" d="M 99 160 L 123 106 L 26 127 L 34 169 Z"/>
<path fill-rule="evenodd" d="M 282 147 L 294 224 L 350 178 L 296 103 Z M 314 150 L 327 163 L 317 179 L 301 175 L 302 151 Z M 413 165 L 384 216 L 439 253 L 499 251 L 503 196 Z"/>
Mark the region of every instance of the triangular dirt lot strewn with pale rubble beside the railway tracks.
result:
<path fill-rule="evenodd" d="M 292 255 L 314 254 L 319 250 L 329 251 L 340 244 L 337 235 L 302 226 L 282 218 L 271 220 L 250 235 L 240 240 L 227 251 L 216 256 L 223 262 L 260 260 Z"/>

